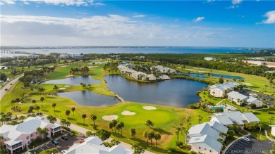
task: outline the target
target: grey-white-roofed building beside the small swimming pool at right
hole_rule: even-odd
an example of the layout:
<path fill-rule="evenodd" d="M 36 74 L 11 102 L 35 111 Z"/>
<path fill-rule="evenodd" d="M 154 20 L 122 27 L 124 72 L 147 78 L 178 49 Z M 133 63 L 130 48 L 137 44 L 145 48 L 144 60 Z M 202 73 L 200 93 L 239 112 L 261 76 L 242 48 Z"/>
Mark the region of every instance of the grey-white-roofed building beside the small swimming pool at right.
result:
<path fill-rule="evenodd" d="M 210 122 L 219 122 L 224 126 L 238 124 L 242 128 L 245 122 L 259 122 L 259 119 L 253 113 L 240 113 L 240 111 L 231 111 L 228 113 L 214 113 Z"/>

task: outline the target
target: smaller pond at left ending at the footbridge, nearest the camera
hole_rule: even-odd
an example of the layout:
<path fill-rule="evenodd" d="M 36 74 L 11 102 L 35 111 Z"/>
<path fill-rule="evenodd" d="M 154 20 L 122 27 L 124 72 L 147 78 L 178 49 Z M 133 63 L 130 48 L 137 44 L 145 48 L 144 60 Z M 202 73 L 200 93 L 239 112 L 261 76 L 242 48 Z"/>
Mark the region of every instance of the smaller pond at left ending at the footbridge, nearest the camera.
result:
<path fill-rule="evenodd" d="M 80 105 L 106 106 L 119 102 L 116 97 L 99 95 L 87 90 L 58 93 L 56 96 L 71 98 Z"/>

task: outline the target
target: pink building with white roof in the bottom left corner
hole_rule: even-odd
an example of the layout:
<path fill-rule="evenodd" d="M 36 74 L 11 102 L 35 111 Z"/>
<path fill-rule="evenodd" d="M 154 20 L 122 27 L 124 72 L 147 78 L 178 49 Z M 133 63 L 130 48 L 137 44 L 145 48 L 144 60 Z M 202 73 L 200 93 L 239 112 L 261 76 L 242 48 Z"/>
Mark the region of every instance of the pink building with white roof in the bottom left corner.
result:
<path fill-rule="evenodd" d="M 28 117 L 24 122 L 16 125 L 4 124 L 0 127 L 0 135 L 4 136 L 7 153 L 17 153 L 39 137 L 36 129 L 47 128 L 49 136 L 61 134 L 60 124 L 51 124 L 41 117 Z"/>

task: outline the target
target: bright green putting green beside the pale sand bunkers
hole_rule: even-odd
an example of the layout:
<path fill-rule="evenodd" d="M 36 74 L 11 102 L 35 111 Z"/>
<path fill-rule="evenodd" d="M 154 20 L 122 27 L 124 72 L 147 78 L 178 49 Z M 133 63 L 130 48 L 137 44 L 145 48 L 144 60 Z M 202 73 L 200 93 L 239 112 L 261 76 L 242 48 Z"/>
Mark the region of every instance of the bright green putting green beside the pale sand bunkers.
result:
<path fill-rule="evenodd" d="M 131 116 L 123 116 L 119 118 L 119 121 L 123 121 L 130 127 L 143 127 L 146 120 L 154 122 L 155 126 L 168 124 L 173 121 L 173 113 L 165 110 L 145 110 L 142 113 L 137 113 Z"/>

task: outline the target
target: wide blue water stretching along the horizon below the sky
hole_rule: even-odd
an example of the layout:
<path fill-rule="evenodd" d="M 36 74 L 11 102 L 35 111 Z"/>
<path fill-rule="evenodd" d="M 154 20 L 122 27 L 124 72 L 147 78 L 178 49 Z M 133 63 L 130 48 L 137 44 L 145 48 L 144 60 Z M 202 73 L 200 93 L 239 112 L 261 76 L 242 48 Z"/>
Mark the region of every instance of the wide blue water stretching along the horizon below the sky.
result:
<path fill-rule="evenodd" d="M 25 46 L 26 47 L 26 46 Z M 25 51 L 29 53 L 68 53 L 68 54 L 80 54 L 80 53 L 243 53 L 252 52 L 245 49 L 234 49 L 229 47 L 198 47 L 198 46 L 140 46 L 140 47 L 90 47 L 90 48 L 68 48 L 68 49 L 13 49 L 14 51 Z M 255 52 L 255 51 L 253 51 Z M 12 54 L 4 53 L 0 54 L 0 57 L 4 56 L 16 56 L 24 54 Z"/>

